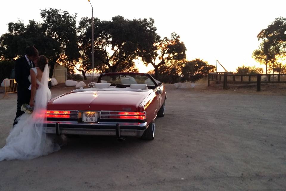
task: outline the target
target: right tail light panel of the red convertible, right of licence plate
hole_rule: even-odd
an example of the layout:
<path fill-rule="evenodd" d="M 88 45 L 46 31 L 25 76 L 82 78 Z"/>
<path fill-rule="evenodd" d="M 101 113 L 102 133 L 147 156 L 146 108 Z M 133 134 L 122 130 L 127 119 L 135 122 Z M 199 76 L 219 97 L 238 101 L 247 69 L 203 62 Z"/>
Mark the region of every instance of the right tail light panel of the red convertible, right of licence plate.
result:
<path fill-rule="evenodd" d="M 101 119 L 146 119 L 145 112 L 138 111 L 101 111 Z"/>

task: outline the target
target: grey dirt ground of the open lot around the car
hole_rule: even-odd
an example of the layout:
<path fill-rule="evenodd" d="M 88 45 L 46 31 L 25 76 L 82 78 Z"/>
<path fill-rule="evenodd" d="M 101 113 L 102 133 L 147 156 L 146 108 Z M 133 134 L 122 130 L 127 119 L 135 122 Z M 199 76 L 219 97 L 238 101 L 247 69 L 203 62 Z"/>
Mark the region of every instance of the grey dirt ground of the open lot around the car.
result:
<path fill-rule="evenodd" d="M 153 141 L 66 138 L 56 153 L 0 162 L 0 190 L 286 190 L 285 86 L 166 87 Z M 0 99 L 0 148 L 16 112 L 10 97 Z"/>

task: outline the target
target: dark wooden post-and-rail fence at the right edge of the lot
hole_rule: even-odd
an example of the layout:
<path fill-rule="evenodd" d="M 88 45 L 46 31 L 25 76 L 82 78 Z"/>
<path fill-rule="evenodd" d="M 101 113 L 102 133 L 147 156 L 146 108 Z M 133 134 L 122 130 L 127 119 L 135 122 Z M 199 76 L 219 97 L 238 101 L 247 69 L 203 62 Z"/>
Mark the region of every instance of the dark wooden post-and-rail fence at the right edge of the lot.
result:
<path fill-rule="evenodd" d="M 264 76 L 265 78 L 262 78 Z M 226 72 L 217 72 L 209 73 L 208 86 L 210 85 L 210 81 L 215 81 L 217 84 L 223 82 L 223 89 L 227 89 L 228 83 L 256 83 L 257 91 L 260 91 L 261 83 L 286 83 L 286 74 L 230 74 Z"/>

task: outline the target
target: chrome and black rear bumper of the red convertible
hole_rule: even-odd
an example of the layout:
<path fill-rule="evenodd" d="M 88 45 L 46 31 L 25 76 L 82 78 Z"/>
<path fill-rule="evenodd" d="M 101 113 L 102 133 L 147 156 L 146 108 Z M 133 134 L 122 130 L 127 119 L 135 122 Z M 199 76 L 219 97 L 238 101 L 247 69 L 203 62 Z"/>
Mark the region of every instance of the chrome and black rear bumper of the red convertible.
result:
<path fill-rule="evenodd" d="M 49 134 L 73 135 L 109 135 L 141 137 L 147 128 L 144 123 L 78 123 L 74 121 L 46 121 L 46 132 Z"/>

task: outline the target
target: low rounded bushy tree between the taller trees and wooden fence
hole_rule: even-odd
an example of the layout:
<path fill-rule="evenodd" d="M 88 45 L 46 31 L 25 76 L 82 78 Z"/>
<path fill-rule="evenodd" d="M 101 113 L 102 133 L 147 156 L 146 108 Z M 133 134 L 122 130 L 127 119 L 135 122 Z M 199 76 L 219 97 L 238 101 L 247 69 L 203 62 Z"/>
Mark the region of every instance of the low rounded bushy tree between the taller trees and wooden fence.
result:
<path fill-rule="evenodd" d="M 184 81 L 197 81 L 214 71 L 215 66 L 209 65 L 207 61 L 196 58 L 185 63 L 182 68 L 182 76 Z"/>

